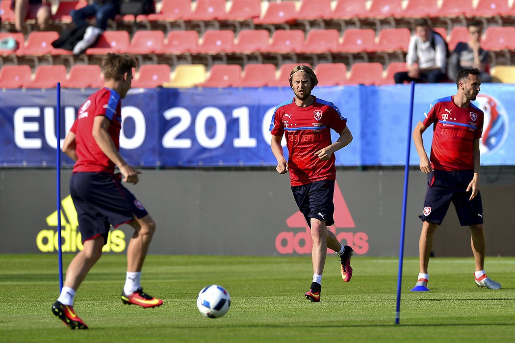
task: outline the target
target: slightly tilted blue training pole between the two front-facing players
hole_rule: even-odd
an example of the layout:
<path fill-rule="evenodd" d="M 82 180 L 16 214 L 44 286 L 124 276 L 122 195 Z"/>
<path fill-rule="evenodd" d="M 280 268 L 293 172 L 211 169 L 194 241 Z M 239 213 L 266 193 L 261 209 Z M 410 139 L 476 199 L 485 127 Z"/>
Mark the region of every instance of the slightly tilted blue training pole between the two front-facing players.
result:
<path fill-rule="evenodd" d="M 408 139 L 406 144 L 406 166 L 404 167 L 404 194 L 402 199 L 402 224 L 401 242 L 399 245 L 399 276 L 397 279 L 397 308 L 395 311 L 395 323 L 399 324 L 401 314 L 401 283 L 402 283 L 402 262 L 404 260 L 404 232 L 406 231 L 406 203 L 408 200 L 408 177 L 409 177 L 409 151 L 411 148 L 411 125 L 413 124 L 413 98 L 415 96 L 415 82 L 411 81 L 411 95 L 409 98 L 408 118 Z"/>

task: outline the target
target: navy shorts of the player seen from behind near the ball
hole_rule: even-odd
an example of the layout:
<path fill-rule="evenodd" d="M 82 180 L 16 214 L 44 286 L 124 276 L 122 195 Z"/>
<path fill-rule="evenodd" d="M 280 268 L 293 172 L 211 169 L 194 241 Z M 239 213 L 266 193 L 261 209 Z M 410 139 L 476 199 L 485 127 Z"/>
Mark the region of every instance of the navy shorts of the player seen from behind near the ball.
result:
<path fill-rule="evenodd" d="M 141 202 L 124 187 L 121 175 L 109 173 L 73 173 L 72 196 L 82 243 L 102 236 L 107 243 L 111 225 L 117 227 L 148 215 Z"/>

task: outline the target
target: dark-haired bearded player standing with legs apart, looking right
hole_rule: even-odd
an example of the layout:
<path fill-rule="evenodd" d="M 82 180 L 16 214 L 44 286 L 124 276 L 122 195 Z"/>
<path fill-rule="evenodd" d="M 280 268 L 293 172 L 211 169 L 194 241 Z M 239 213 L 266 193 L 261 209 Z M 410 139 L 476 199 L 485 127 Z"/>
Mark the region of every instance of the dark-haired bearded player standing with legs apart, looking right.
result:
<path fill-rule="evenodd" d="M 456 95 L 434 101 L 413 131 L 420 156 L 420 170 L 428 173 L 422 232 L 419 241 L 420 273 L 414 291 L 428 291 L 427 266 L 433 235 L 443 221 L 451 201 L 462 226 L 471 230 L 475 260 L 475 282 L 480 287 L 499 289 L 501 285 L 485 273 L 485 233 L 483 203 L 479 193 L 479 139 L 483 132 L 483 111 L 474 106 L 481 84 L 477 68 L 461 70 L 456 76 Z M 431 160 L 427 158 L 422 133 L 433 125 Z"/>

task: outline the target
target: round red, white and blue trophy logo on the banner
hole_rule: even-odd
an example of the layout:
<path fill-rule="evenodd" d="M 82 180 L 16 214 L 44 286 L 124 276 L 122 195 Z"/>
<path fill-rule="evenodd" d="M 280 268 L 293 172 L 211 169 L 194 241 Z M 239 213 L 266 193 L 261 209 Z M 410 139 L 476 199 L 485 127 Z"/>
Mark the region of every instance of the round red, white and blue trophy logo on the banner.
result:
<path fill-rule="evenodd" d="M 477 95 L 474 102 L 485 113 L 479 150 L 482 155 L 489 155 L 499 149 L 508 136 L 508 114 L 501 101 L 491 95 Z"/>

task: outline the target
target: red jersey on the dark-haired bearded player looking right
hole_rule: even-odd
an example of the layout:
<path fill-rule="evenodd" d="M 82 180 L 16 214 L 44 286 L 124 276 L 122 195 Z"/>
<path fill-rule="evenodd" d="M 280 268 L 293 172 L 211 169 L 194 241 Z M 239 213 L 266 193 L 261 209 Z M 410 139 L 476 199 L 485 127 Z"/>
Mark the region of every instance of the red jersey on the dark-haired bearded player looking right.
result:
<path fill-rule="evenodd" d="M 433 169 L 474 169 L 474 140 L 481 138 L 483 115 L 472 104 L 467 108 L 456 106 L 453 96 L 437 99 L 430 105 L 422 124 L 425 127 L 433 124 L 430 158 Z"/>

